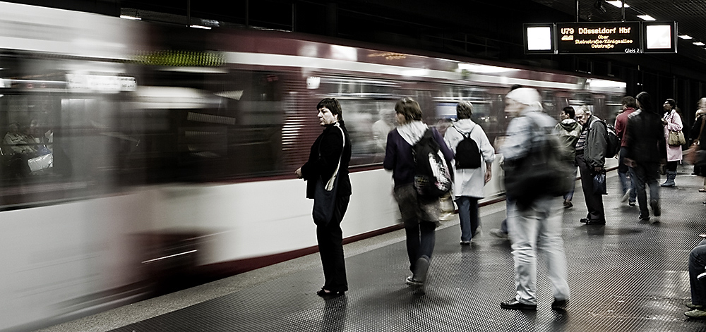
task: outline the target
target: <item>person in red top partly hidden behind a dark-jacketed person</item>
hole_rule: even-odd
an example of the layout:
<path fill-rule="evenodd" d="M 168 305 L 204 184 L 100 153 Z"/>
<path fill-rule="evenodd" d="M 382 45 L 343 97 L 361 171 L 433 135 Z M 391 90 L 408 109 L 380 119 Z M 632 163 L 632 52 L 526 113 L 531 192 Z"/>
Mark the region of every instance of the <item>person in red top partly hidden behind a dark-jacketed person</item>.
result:
<path fill-rule="evenodd" d="M 628 147 L 628 140 L 626 140 L 625 129 L 628 125 L 628 116 L 632 114 L 638 107 L 635 104 L 635 98 L 632 96 L 623 97 L 623 111 L 616 116 L 616 135 L 620 139 L 620 153 L 618 154 L 618 178 L 620 179 L 621 189 L 623 190 L 623 199 L 621 201 L 624 203 L 628 201 L 630 207 L 635 206 L 635 197 L 637 197 L 637 192 L 635 192 L 635 183 L 633 179 L 629 178 L 630 168 L 628 164 L 625 163 L 626 148 Z"/>

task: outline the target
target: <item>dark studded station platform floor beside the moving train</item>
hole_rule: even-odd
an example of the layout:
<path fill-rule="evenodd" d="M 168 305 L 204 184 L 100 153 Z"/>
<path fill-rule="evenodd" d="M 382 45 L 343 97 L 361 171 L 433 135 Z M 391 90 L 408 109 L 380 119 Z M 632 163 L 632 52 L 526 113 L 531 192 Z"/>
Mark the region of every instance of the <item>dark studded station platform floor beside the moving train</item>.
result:
<path fill-rule="evenodd" d="M 580 223 L 587 209 L 577 182 L 574 206 L 563 210 L 566 312 L 550 308 L 541 255 L 537 312 L 501 309 L 515 286 L 510 242 L 489 234 L 505 218 L 500 202 L 481 207 L 484 234 L 471 246 L 459 245 L 457 217 L 438 228 L 424 292 L 405 285 L 405 234 L 397 230 L 345 246 L 342 297 L 316 295 L 317 253 L 39 331 L 706 331 L 706 321 L 683 315 L 688 253 L 706 233 L 703 179 L 691 172 L 680 168 L 677 186 L 662 187 L 657 223 L 640 222 L 638 207 L 621 202 L 616 171 L 604 196 L 606 225 Z"/>

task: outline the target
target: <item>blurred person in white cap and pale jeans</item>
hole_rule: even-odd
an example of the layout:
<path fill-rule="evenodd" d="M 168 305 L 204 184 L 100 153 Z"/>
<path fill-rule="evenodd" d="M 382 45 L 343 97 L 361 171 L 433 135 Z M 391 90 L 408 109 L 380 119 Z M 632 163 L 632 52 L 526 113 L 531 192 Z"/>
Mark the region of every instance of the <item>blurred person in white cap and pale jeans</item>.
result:
<path fill-rule="evenodd" d="M 556 122 L 542 112 L 542 99 L 539 92 L 530 88 L 520 88 L 505 97 L 505 112 L 517 114 L 508 124 L 508 136 L 500 146 L 505 158 L 505 167 L 520 173 L 513 173 L 515 179 L 522 178 L 523 161 L 530 160 L 532 154 L 541 156 L 539 143 L 553 133 Z M 558 141 L 558 137 L 554 137 Z M 551 137 L 549 137 L 551 139 Z M 558 147 L 560 143 L 556 143 Z M 559 151 L 549 152 L 560 153 Z M 547 164 L 549 165 L 549 164 Z M 519 166 L 519 167 L 518 167 Z M 557 176 L 558 173 L 556 172 Z M 505 187 L 508 186 L 508 173 L 505 173 Z M 527 188 L 526 188 L 527 189 Z M 554 302 L 552 309 L 566 309 L 569 300 L 569 286 L 566 282 L 566 255 L 561 238 L 561 213 L 559 198 L 549 184 L 531 188 L 531 197 L 508 197 L 508 231 L 512 240 L 515 262 L 515 297 L 501 302 L 503 309 L 537 309 L 537 250 L 547 259 L 549 281 L 552 285 Z M 520 202 L 522 204 L 520 204 Z"/>

